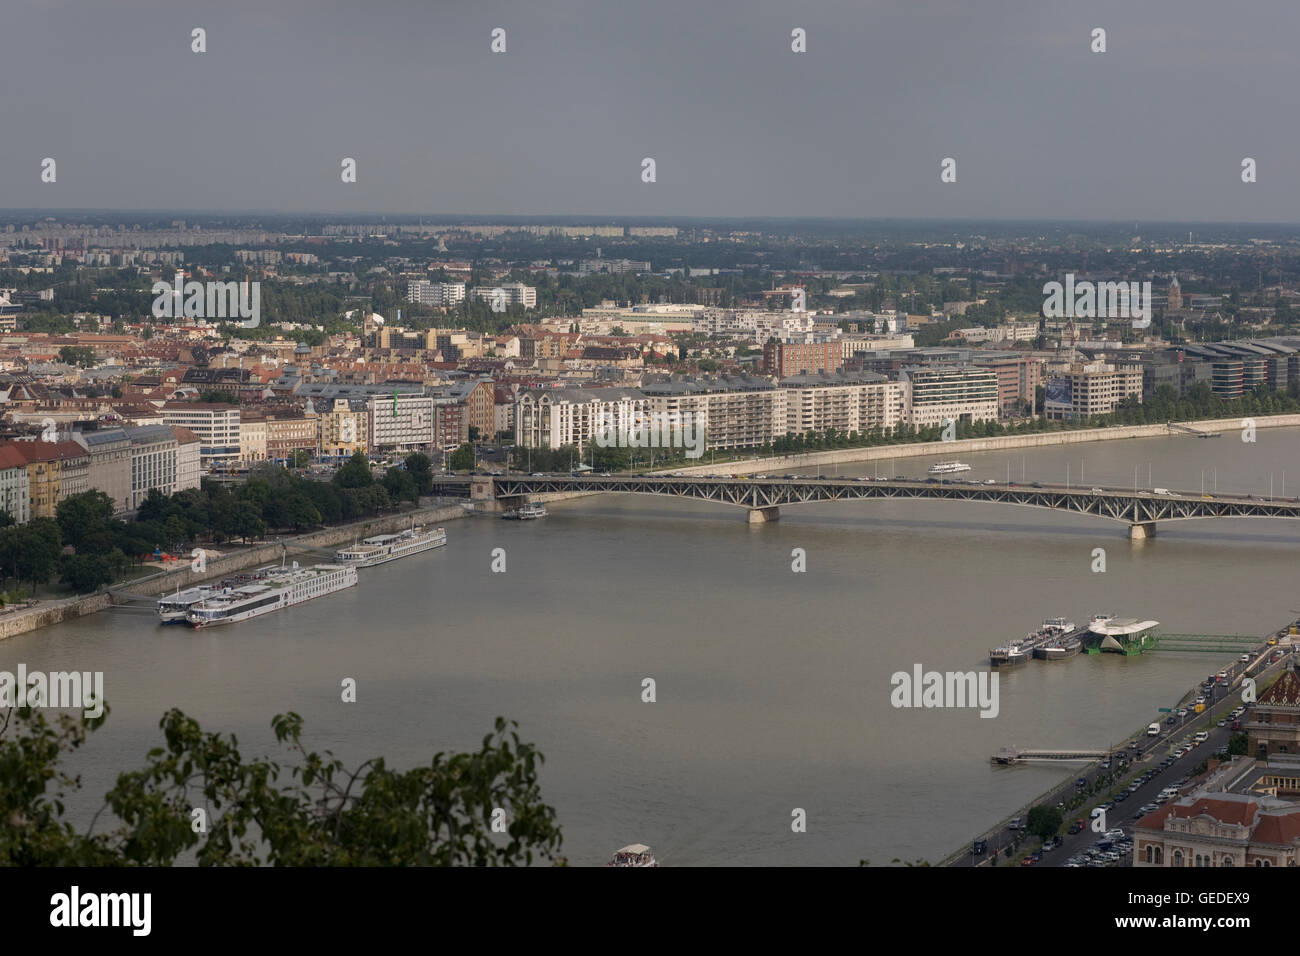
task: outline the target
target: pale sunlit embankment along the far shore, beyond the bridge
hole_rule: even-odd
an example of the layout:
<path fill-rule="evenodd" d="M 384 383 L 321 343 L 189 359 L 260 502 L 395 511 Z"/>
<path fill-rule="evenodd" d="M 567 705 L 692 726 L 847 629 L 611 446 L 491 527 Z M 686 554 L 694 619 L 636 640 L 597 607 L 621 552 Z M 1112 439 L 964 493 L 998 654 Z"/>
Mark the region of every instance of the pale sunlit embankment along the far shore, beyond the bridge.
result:
<path fill-rule="evenodd" d="M 1269 415 L 1251 419 L 1256 429 L 1297 428 L 1300 415 Z M 1121 441 L 1127 438 L 1164 438 L 1183 434 L 1182 429 L 1196 432 L 1219 432 L 1219 441 L 1240 441 L 1242 419 L 1205 419 L 1200 421 L 1179 421 L 1169 425 L 1118 425 L 1114 428 L 1080 428 L 1070 432 L 1031 432 L 1027 434 L 1001 434 L 993 438 L 962 438 L 961 441 L 927 441 L 904 445 L 874 445 L 870 447 L 836 449 L 833 451 L 806 451 L 798 455 L 779 455 L 772 458 L 749 458 L 738 462 L 716 462 L 690 464 L 672 468 L 682 475 L 710 475 L 722 466 L 731 475 L 753 475 L 755 472 L 784 471 L 807 466 L 836 466 L 853 462 L 883 462 L 898 458 L 924 458 L 930 455 L 971 454 L 976 451 L 1001 451 L 1004 449 L 1048 447 L 1053 445 L 1078 445 L 1093 441 Z"/>

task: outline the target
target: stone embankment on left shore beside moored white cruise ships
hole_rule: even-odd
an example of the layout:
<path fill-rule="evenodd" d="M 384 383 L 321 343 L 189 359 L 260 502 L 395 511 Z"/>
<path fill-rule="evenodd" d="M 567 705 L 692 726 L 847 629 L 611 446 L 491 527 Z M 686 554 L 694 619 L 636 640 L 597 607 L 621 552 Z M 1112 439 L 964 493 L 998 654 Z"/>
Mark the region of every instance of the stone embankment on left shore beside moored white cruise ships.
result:
<path fill-rule="evenodd" d="M 325 550 L 334 545 L 351 542 L 359 537 L 402 531 L 411 524 L 412 519 L 417 523 L 443 523 L 464 516 L 465 510 L 459 505 L 428 505 L 382 518 L 322 528 L 321 531 L 308 532 L 307 535 L 285 538 L 283 541 L 272 541 L 233 551 L 224 551 L 220 558 L 208 562 L 207 570 L 202 572 L 194 571 L 188 564 L 182 564 L 173 571 L 160 571 L 147 578 L 109 585 L 94 594 L 66 597 L 57 601 L 42 601 L 34 607 L 6 614 L 0 617 L 0 640 L 36 631 L 72 618 L 95 614 L 107 610 L 113 604 L 125 604 L 133 596 L 152 597 L 177 589 L 183 591 L 200 581 L 220 579 L 248 567 L 276 563 L 281 559 L 282 554 L 292 555 L 312 550 Z M 312 563 L 325 563 L 328 561 L 329 557 L 322 554 L 318 557 L 318 561 Z"/>

